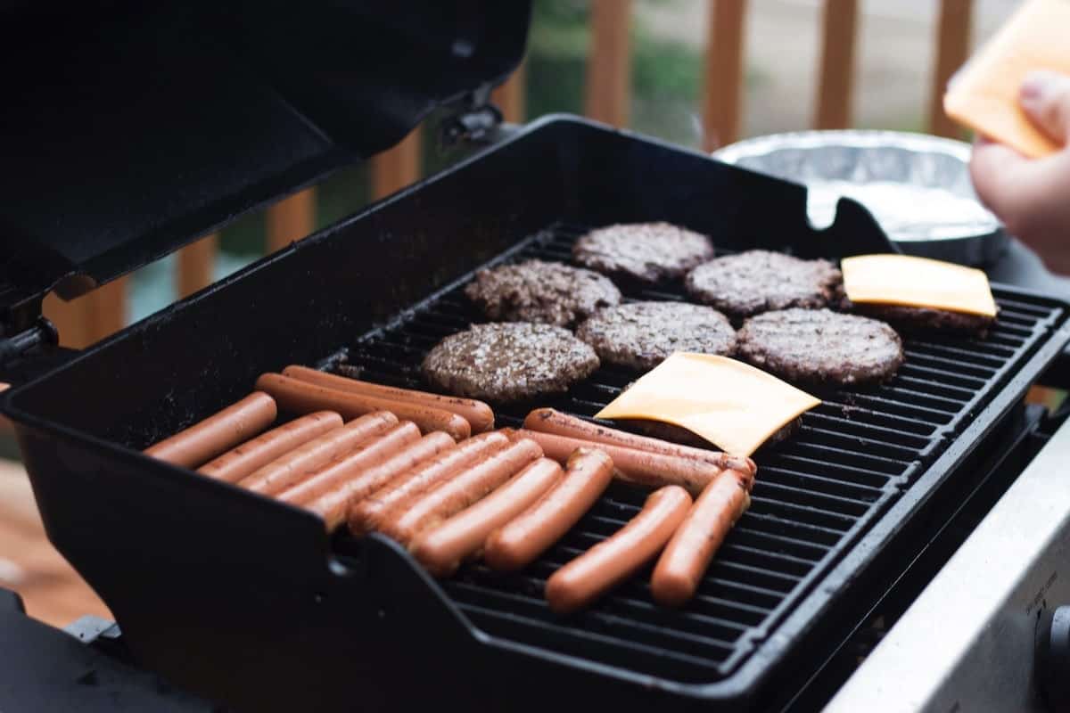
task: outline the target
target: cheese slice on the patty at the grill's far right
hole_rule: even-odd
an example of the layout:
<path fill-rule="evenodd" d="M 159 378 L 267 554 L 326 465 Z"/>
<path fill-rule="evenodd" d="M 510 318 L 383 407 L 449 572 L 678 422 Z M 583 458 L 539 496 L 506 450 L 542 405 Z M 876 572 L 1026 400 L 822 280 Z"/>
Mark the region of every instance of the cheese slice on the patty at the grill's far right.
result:
<path fill-rule="evenodd" d="M 996 315 L 989 277 L 979 269 L 908 255 L 856 255 L 840 261 L 847 299 Z"/>

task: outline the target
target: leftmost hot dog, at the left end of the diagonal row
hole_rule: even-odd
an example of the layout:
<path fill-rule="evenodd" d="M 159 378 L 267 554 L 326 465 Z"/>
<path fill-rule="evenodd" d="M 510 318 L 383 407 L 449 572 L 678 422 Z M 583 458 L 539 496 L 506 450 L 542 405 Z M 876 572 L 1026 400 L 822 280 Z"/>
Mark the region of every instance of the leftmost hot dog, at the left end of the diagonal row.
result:
<path fill-rule="evenodd" d="M 254 391 L 203 421 L 146 448 L 144 453 L 196 468 L 260 433 L 276 416 L 275 400 L 262 391 Z"/>

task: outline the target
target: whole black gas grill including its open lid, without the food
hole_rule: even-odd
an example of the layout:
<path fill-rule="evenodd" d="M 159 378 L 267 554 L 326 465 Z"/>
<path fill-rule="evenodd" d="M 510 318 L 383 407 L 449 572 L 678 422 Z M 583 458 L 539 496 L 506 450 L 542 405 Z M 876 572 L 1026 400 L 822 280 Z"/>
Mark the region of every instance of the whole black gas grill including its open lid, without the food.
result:
<path fill-rule="evenodd" d="M 710 235 L 721 252 L 893 248 L 857 203 L 841 201 L 836 221 L 815 230 L 802 187 L 652 139 L 567 117 L 493 127 L 486 98 L 520 59 L 523 3 L 401 3 L 422 11 L 417 25 L 374 3 L 307 5 L 223 3 L 200 16 L 180 3 L 120 4 L 79 18 L 114 24 L 41 33 L 42 63 L 28 65 L 37 74 L 27 72 L 0 120 L 20 129 L 0 131 L 0 145 L 18 144 L 4 184 L 16 199 L 37 185 L 24 173 L 103 166 L 109 143 L 182 146 L 95 181 L 49 182 L 47 202 L 37 191 L 0 216 L 17 237 L 0 244 L 0 378 L 16 383 L 0 409 L 15 423 L 50 540 L 114 613 L 133 660 L 257 711 L 771 710 L 794 697 L 1022 440 L 1008 429 L 1070 339 L 1068 306 L 997 288 L 1002 313 L 987 339 L 907 340 L 890 383 L 820 394 L 797 434 L 756 454 L 751 508 L 682 610 L 652 603 L 646 573 L 586 613 L 556 617 L 544 604 L 553 569 L 636 511 L 642 494 L 624 485 L 523 572 L 475 564 L 437 583 L 380 536 L 328 539 L 308 512 L 139 451 L 289 363 L 346 361 L 367 378 L 421 385 L 427 350 L 478 319 L 458 292 L 473 270 L 525 255 L 567 260 L 588 226 L 667 220 Z M 120 11 L 138 20 L 135 31 Z M 32 7 L 16 12 L 44 22 Z M 226 36 L 241 42 L 218 42 L 220 28 L 235 27 Z M 199 51 L 195 35 L 226 71 L 185 61 Z M 292 40 L 285 57 L 274 51 L 280 37 Z M 419 51 L 406 53 L 407 43 Z M 114 71 L 97 79 L 116 86 L 86 92 L 86 74 L 72 67 L 101 55 Z M 406 59 L 382 61 L 393 55 Z M 146 67 L 182 75 L 178 95 L 165 80 L 159 96 L 139 94 Z M 41 86 L 55 91 L 17 100 Z M 217 100 L 198 104 L 202 90 Z M 221 114 L 245 117 L 250 95 L 266 102 L 256 112 L 263 130 L 231 141 L 233 117 Z M 108 113 L 94 96 L 107 97 Z M 452 99 L 450 136 L 483 135 L 490 146 L 82 353 L 52 343 L 39 317 L 54 285 L 74 293 L 140 266 L 381 150 Z M 199 112 L 189 131 L 172 121 L 175 103 L 214 112 Z M 81 121 L 90 114 L 111 119 Z M 203 173 L 226 185 L 166 191 Z M 664 284 L 628 297 L 682 294 Z M 633 377 L 606 368 L 539 405 L 590 417 Z M 496 410 L 515 425 L 526 407 Z"/>

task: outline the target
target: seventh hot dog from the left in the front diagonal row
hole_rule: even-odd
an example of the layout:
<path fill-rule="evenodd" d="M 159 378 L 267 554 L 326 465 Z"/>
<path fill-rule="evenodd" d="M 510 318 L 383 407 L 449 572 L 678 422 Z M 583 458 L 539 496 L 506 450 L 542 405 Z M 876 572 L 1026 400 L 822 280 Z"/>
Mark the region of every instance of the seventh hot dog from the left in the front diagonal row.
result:
<path fill-rule="evenodd" d="M 381 531 L 408 546 L 423 530 L 479 501 L 515 472 L 541 456 L 542 449 L 535 441 L 528 438 L 515 440 L 456 478 L 439 483 L 410 502 L 400 503 L 386 515 Z"/>

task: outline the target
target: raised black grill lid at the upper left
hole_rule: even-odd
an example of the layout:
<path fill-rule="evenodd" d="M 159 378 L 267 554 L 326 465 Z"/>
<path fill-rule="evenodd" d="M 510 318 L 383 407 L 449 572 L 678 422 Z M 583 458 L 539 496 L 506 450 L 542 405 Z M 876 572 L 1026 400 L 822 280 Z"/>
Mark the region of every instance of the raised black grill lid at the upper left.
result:
<path fill-rule="evenodd" d="M 530 2 L 0 3 L 0 340 L 73 297 L 477 107 Z"/>

